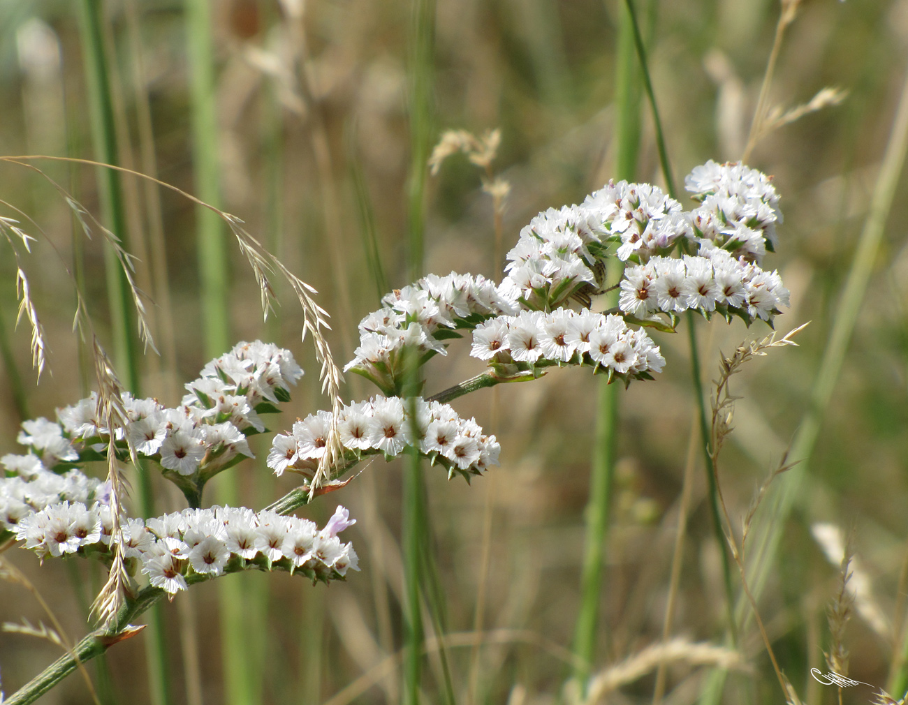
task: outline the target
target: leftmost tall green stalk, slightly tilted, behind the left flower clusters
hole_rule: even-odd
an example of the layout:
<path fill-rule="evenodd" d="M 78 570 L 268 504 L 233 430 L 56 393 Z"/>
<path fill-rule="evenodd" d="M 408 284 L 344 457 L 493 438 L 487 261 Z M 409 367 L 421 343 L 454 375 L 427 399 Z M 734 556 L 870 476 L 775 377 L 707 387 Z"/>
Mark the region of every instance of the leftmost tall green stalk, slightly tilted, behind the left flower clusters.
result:
<path fill-rule="evenodd" d="M 99 162 L 119 164 L 117 149 L 114 102 L 112 99 L 111 76 L 104 42 L 104 5 L 101 0 L 83 0 L 80 7 L 80 35 L 84 47 L 86 83 L 92 105 L 92 135 L 94 152 Z M 100 174 L 102 202 L 105 220 L 128 247 L 126 214 L 120 174 L 104 169 Z M 104 247 L 104 264 L 107 272 L 108 300 L 114 327 L 114 339 L 119 366 L 126 371 L 126 386 L 133 395 L 140 397 L 138 341 L 133 334 L 133 303 L 129 284 L 114 252 Z M 137 465 L 139 482 L 136 486 L 137 500 L 145 516 L 153 516 L 153 494 L 151 477 Z M 170 700 L 170 678 L 166 666 L 166 647 L 163 639 L 163 615 L 155 608 L 148 620 L 148 648 L 145 651 L 148 668 L 148 682 L 154 705 L 164 705 Z"/>

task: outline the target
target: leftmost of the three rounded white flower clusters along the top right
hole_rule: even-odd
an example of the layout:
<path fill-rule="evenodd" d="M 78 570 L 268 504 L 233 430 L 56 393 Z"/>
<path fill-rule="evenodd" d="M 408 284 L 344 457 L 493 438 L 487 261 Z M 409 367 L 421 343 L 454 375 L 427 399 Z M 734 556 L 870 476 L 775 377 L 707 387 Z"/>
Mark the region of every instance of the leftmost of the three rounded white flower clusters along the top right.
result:
<path fill-rule="evenodd" d="M 557 306 L 582 283 L 598 289 L 597 257 L 589 246 L 598 243 L 600 226 L 596 213 L 582 206 L 539 213 L 508 252 L 500 290 L 508 299 L 541 307 Z"/>

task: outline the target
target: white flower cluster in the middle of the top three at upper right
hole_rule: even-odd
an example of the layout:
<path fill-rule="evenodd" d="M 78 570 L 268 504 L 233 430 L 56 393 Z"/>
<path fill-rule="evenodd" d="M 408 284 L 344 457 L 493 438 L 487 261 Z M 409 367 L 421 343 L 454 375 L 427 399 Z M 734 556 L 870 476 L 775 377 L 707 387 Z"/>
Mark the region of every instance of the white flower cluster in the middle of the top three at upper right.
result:
<path fill-rule="evenodd" d="M 645 262 L 690 233 L 681 204 L 648 183 L 609 181 L 583 201 L 598 229 L 621 241 L 618 259 Z"/>

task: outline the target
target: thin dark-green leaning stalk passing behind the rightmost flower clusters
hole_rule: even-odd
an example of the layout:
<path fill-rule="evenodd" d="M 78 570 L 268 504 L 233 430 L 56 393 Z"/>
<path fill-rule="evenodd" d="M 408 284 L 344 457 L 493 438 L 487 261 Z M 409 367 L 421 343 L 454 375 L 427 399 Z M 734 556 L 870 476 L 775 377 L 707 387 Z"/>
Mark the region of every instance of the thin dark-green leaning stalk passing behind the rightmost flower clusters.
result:
<path fill-rule="evenodd" d="M 637 23 L 637 15 L 634 11 L 633 0 L 625 0 L 627 12 L 630 16 L 632 28 L 634 30 L 634 44 L 637 46 L 637 57 L 640 60 L 640 69 L 643 74 L 644 88 L 646 97 L 653 113 L 653 124 L 656 132 L 656 147 L 659 152 L 659 163 L 662 167 L 663 178 L 666 180 L 666 189 L 668 195 L 677 199 L 675 189 L 675 179 L 672 176 L 671 165 L 668 162 L 668 152 L 666 150 L 665 136 L 662 131 L 662 121 L 659 118 L 659 109 L 656 104 L 656 93 L 653 91 L 653 83 L 649 77 L 649 68 L 646 63 L 646 47 L 643 45 L 643 37 L 640 34 L 640 26 Z M 710 510 L 713 517 L 713 533 L 716 534 L 716 541 L 719 543 L 719 551 L 722 554 L 722 577 L 725 584 L 725 602 L 728 610 L 728 629 L 732 634 L 732 644 L 736 642 L 735 628 L 735 593 L 732 589 L 731 564 L 728 560 L 728 552 L 725 545 L 725 533 L 722 529 L 722 519 L 719 515 L 719 502 L 716 492 L 715 474 L 713 473 L 713 461 L 709 454 L 709 428 L 706 423 L 706 398 L 703 392 L 703 379 L 700 376 L 700 357 L 696 344 L 696 328 L 694 327 L 695 318 L 692 313 L 687 313 L 687 336 L 690 345 L 691 359 L 691 378 L 694 384 L 694 396 L 697 411 L 700 415 L 700 437 L 703 446 L 704 459 L 706 460 L 706 475 L 709 483 L 709 500 Z"/>

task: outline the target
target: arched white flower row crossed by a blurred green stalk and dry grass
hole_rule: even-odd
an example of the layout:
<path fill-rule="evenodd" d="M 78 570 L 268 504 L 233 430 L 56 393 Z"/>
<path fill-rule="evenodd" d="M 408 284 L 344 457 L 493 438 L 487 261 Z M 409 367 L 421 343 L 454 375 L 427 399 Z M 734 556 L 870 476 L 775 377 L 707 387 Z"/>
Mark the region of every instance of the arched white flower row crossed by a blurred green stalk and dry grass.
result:
<path fill-rule="evenodd" d="M 416 410 L 415 424 L 410 405 Z M 330 426 L 327 411 L 297 421 L 290 434 L 274 436 L 268 466 L 276 475 L 285 470 L 314 470 L 324 455 Z M 498 465 L 500 446 L 495 436 L 486 436 L 474 419 L 460 418 L 447 404 L 422 398 L 374 397 L 344 406 L 338 432 L 351 457 L 380 452 L 390 458 L 416 446 L 433 464 L 449 468 L 449 476 L 455 472 L 479 475 L 489 465 Z"/>

